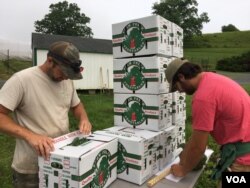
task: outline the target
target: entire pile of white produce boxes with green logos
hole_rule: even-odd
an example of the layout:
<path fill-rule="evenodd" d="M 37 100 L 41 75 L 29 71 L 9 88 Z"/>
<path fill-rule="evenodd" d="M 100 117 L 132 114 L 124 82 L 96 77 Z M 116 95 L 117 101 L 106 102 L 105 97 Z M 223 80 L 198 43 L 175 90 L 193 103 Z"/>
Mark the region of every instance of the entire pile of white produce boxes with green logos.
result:
<path fill-rule="evenodd" d="M 39 187 L 108 187 L 117 177 L 143 184 L 178 156 L 185 142 L 183 93 L 169 92 L 165 69 L 183 56 L 183 31 L 149 16 L 112 25 L 114 125 L 55 139 L 39 157 Z"/>

